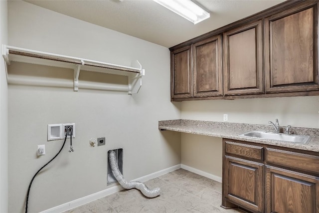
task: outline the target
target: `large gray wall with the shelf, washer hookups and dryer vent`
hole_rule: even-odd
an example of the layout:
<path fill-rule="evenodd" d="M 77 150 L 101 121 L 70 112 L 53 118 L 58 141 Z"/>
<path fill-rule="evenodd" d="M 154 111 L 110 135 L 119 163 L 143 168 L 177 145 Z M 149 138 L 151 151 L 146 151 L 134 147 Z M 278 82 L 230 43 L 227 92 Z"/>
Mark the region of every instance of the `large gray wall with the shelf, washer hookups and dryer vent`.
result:
<path fill-rule="evenodd" d="M 43 9 L 25 1 L 8 2 L 9 45 L 130 65 L 138 59 L 146 76 L 139 94 L 71 88 L 9 85 L 9 212 L 23 212 L 28 183 L 52 158 L 62 140 L 47 141 L 47 125 L 76 124 L 75 152 L 67 147 L 35 179 L 29 212 L 43 211 L 107 187 L 107 151 L 124 149 L 124 176 L 137 179 L 180 164 L 180 134 L 161 133 L 158 121 L 180 118 L 180 104 L 169 99 L 169 50 L 110 29 Z M 9 75 L 72 81 L 73 70 L 12 63 Z M 49 78 L 50 76 L 50 78 Z M 80 80 L 118 77 L 80 72 Z M 110 80 L 111 79 L 111 80 Z M 91 147 L 90 138 L 106 137 Z M 36 156 L 45 144 L 46 155 Z M 111 185 L 112 186 L 112 185 Z"/>

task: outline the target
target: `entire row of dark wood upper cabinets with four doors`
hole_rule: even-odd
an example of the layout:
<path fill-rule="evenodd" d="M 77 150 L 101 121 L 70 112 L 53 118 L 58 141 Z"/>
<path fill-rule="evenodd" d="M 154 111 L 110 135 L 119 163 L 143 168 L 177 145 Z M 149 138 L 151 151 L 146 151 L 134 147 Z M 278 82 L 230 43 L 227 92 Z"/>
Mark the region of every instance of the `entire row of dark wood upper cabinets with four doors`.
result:
<path fill-rule="evenodd" d="M 319 95 L 319 0 L 287 0 L 171 51 L 171 100 Z"/>

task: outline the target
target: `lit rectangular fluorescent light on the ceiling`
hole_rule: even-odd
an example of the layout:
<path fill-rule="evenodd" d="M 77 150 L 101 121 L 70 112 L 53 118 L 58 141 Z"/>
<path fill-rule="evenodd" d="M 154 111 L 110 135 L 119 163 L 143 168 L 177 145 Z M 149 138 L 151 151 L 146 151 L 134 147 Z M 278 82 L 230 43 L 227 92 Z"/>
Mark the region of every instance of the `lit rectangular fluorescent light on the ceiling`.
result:
<path fill-rule="evenodd" d="M 191 0 L 154 0 L 167 9 L 186 18 L 194 24 L 210 17 L 209 13 Z"/>

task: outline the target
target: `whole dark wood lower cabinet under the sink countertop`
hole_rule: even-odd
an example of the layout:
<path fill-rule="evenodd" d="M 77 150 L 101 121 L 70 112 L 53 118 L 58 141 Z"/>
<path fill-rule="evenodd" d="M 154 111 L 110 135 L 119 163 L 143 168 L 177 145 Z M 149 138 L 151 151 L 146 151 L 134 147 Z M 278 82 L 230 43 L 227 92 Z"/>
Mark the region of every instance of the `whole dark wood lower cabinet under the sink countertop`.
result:
<path fill-rule="evenodd" d="M 221 207 L 319 213 L 318 163 L 316 152 L 223 139 Z"/>

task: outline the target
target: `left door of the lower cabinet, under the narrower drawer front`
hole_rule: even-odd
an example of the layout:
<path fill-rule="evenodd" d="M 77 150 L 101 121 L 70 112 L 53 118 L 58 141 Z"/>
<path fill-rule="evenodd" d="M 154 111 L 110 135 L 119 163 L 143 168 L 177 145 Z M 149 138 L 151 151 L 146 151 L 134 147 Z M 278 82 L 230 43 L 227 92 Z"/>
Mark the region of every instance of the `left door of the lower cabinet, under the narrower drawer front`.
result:
<path fill-rule="evenodd" d="M 260 163 L 225 157 L 223 206 L 234 203 L 255 213 L 263 212 L 264 166 Z"/>

